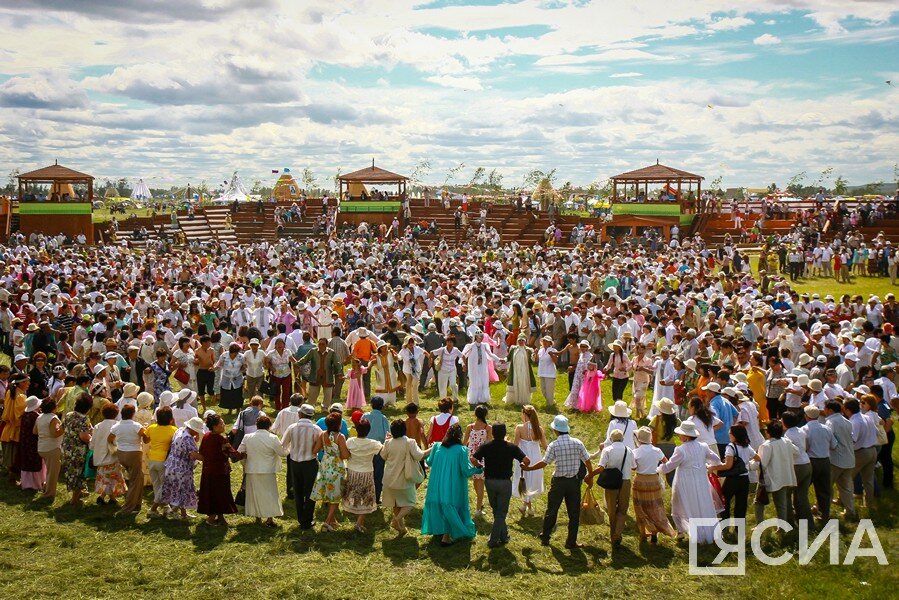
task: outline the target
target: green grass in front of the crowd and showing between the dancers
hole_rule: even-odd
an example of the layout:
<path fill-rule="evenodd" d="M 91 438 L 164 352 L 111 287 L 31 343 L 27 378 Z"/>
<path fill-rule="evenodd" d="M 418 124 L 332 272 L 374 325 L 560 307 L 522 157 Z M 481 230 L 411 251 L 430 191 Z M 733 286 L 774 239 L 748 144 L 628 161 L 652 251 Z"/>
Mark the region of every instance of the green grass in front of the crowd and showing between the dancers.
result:
<path fill-rule="evenodd" d="M 557 402 L 561 402 L 567 394 L 564 376 L 556 387 Z M 505 385 L 494 385 L 491 390 L 491 418 L 518 423 L 520 412 L 507 409 L 500 400 Z M 608 404 L 609 382 L 604 382 L 603 393 Z M 434 394 L 426 394 L 422 417 L 433 414 L 434 406 Z M 393 417 L 397 411 L 388 414 Z M 467 405 L 459 416 L 463 423 L 473 420 Z M 542 411 L 542 422 L 548 423 L 551 416 Z M 573 434 L 595 449 L 605 432 L 607 413 L 571 415 L 571 420 Z M 235 467 L 232 487 L 236 489 L 240 466 Z M 550 474 L 547 469 L 547 484 Z M 282 471 L 282 493 L 283 476 Z M 473 491 L 471 497 L 474 506 Z M 423 499 L 424 489 L 419 493 L 419 506 Z M 403 538 L 396 537 L 387 526 L 389 518 L 381 513 L 369 516 L 364 535 L 352 530 L 351 519 L 343 519 L 341 530 L 335 533 L 301 532 L 292 504 L 285 505 L 278 531 L 256 527 L 240 515 L 233 515 L 232 526 L 224 529 L 199 522 L 153 521 L 146 512 L 136 518 L 116 517 L 114 509 L 94 504 L 75 509 L 65 505 L 65 491 L 50 506 L 4 482 L 0 483 L 0 597 L 44 598 L 65 591 L 71 598 L 154 599 L 242 595 L 329 599 L 522 595 L 873 598 L 883 597 L 884 586 L 899 582 L 894 569 L 880 567 L 870 558 L 832 568 L 814 568 L 820 562 L 800 567 L 795 560 L 782 567 L 762 567 L 750 558 L 747 577 L 691 577 L 687 545 L 668 538 L 658 546 L 640 543 L 632 514 L 620 548 L 612 550 L 608 528 L 602 525 L 582 527 L 580 540 L 586 547 L 569 551 L 563 548 L 567 523 L 563 509 L 553 544 L 544 548 L 537 534 L 545 499 L 537 502 L 538 516 L 530 518 L 520 518 L 513 500 L 509 518 L 512 541 L 490 550 L 486 545 L 489 509 L 486 518 L 478 522 L 473 542 L 442 548 L 416 535 L 420 510 L 410 515 L 410 534 Z M 899 562 L 897 506 L 896 493 L 889 493 L 873 515 L 893 565 Z M 323 520 L 321 511 L 317 519 Z M 849 539 L 844 539 L 841 556 Z M 790 545 L 766 538 L 766 548 L 773 555 Z M 700 557 L 708 562 L 714 553 L 704 550 Z"/>

